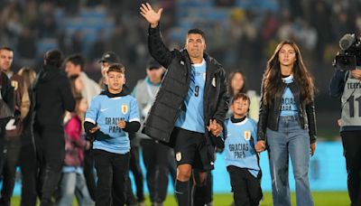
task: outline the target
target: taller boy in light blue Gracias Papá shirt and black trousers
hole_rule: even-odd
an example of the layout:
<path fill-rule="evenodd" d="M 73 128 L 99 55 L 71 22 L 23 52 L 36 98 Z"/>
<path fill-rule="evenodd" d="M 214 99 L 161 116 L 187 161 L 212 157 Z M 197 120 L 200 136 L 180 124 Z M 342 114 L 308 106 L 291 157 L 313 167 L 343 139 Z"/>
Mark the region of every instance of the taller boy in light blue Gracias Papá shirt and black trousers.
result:
<path fill-rule="evenodd" d="M 124 205 L 130 151 L 128 132 L 136 132 L 140 127 L 138 104 L 123 90 L 123 65 L 110 66 L 106 74 L 108 87 L 91 101 L 84 128 L 95 138 L 96 205 Z"/>

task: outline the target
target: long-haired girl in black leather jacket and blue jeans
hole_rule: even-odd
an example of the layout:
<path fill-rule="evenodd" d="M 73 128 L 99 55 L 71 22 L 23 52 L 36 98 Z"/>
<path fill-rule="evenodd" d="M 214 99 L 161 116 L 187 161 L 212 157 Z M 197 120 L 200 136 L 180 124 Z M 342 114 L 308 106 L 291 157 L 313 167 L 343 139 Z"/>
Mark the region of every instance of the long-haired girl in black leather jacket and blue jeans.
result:
<path fill-rule="evenodd" d="M 313 205 L 310 155 L 316 150 L 314 85 L 299 47 L 283 41 L 267 62 L 258 121 L 257 152 L 268 150 L 273 205 L 290 205 L 289 157 L 296 182 L 297 205 Z"/>

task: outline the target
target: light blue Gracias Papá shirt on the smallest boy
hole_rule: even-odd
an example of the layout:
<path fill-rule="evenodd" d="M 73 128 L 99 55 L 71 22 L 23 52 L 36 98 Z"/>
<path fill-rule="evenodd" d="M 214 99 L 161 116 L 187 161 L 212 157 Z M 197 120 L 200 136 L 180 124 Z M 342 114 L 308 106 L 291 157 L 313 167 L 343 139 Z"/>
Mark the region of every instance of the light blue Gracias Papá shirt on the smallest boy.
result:
<path fill-rule="evenodd" d="M 257 177 L 260 169 L 257 153 L 255 152 L 257 124 L 251 118 L 233 123 L 226 120 L 227 137 L 225 139 L 226 166 L 236 166 L 248 169 L 249 173 Z"/>

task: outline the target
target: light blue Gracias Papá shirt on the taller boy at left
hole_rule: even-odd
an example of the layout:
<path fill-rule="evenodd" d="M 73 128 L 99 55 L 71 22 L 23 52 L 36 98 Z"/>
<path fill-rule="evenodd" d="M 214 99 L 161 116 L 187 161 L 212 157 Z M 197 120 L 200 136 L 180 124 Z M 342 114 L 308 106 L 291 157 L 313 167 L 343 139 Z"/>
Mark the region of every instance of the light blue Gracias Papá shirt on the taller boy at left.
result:
<path fill-rule="evenodd" d="M 138 103 L 135 98 L 130 95 L 116 98 L 98 95 L 91 100 L 85 121 L 97 124 L 100 131 L 111 136 L 109 139 L 94 141 L 93 149 L 116 154 L 129 152 L 129 136 L 127 132 L 117 126 L 119 120 L 139 122 Z"/>

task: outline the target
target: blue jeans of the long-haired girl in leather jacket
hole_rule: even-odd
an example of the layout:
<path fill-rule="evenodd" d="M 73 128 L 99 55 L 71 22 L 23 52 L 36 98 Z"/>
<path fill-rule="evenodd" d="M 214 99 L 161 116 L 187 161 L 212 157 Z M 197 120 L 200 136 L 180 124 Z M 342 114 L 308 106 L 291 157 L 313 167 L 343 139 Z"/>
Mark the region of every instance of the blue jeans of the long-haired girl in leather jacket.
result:
<path fill-rule="evenodd" d="M 278 131 L 267 128 L 268 157 L 272 177 L 273 205 L 291 206 L 288 177 L 289 155 L 296 182 L 298 206 L 313 205 L 310 194 L 310 136 L 296 116 L 280 117 Z"/>

